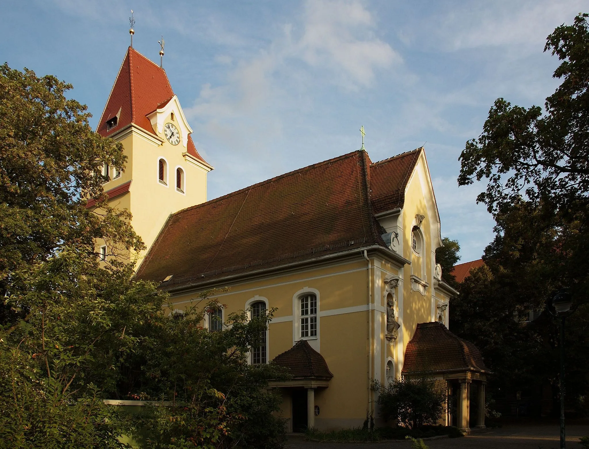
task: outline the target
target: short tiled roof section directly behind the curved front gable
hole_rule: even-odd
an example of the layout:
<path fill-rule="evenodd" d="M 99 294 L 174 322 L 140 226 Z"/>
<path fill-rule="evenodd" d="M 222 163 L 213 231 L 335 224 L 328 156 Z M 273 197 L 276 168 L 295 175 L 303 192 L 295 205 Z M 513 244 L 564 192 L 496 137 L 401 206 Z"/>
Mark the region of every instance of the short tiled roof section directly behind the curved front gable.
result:
<path fill-rule="evenodd" d="M 403 207 L 405 187 L 421 152 L 422 148 L 414 149 L 370 166 L 375 214 Z"/>

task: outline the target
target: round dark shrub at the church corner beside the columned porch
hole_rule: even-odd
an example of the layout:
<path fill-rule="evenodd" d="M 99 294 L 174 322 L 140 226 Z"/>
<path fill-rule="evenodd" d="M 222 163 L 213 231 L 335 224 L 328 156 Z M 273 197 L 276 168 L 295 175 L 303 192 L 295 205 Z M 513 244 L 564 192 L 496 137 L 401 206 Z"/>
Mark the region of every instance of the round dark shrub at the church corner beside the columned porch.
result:
<path fill-rule="evenodd" d="M 385 385 L 375 381 L 380 415 L 410 429 L 425 424 L 437 424 L 446 401 L 446 392 L 436 381 L 428 378 L 401 378 Z"/>

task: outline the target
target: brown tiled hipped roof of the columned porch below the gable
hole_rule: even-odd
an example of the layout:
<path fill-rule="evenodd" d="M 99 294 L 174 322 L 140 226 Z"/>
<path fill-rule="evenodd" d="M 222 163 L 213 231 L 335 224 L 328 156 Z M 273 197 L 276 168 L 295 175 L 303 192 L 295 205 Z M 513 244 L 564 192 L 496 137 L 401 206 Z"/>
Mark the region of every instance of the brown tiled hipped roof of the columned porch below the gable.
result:
<path fill-rule="evenodd" d="M 441 322 L 418 324 L 405 348 L 403 374 L 442 371 L 488 372 L 474 344 L 456 337 Z"/>

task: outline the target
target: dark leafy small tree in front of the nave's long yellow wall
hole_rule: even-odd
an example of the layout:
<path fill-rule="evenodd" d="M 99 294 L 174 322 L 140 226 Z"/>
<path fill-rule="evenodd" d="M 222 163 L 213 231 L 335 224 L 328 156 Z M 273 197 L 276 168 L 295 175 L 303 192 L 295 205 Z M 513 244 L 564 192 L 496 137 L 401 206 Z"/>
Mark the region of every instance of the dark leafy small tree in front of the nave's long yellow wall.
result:
<path fill-rule="evenodd" d="M 203 300 L 206 295 L 198 302 Z M 247 363 L 274 310 L 251 320 L 250 311 L 231 313 L 223 330 L 211 332 L 201 325 L 204 315 L 224 305 L 211 300 L 199 307 L 198 302 L 151 327 L 128 358 L 119 390 L 124 388 L 127 397 L 169 403 L 139 415 L 134 433 L 148 448 L 209 447 L 204 435 L 213 435 L 211 448 L 282 447 L 284 420 L 274 415 L 282 398 L 266 388 L 270 379 L 286 380 L 287 374 L 274 364 Z"/>

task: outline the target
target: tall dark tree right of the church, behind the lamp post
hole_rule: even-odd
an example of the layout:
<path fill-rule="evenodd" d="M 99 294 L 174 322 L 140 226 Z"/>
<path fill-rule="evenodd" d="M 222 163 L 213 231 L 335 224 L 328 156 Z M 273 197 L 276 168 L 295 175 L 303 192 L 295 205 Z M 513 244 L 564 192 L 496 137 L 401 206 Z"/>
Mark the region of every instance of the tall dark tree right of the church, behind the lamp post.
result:
<path fill-rule="evenodd" d="M 578 310 L 567 320 L 569 396 L 589 390 L 589 24 L 558 26 L 544 51 L 561 63 L 544 108 L 499 98 L 482 134 L 466 142 L 459 185 L 487 181 L 478 195 L 494 215 L 485 267 L 472 271 L 451 309 L 453 329 L 474 341 L 499 384 L 557 378 L 558 324 L 545 312 L 560 288 Z M 524 322 L 531 311 L 540 319 Z"/>

